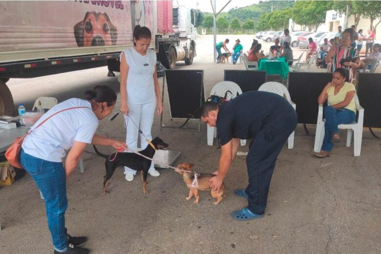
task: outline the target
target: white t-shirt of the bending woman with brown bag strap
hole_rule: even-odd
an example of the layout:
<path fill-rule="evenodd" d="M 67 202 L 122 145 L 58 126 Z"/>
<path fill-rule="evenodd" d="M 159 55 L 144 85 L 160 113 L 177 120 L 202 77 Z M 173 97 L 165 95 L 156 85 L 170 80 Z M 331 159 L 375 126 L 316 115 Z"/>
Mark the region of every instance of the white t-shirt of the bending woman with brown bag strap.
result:
<path fill-rule="evenodd" d="M 98 127 L 98 118 L 91 110 L 91 104 L 82 99 L 69 99 L 52 107 L 31 130 L 55 112 L 75 106 L 88 108 L 69 109 L 51 117 L 26 136 L 22 142 L 22 149 L 27 154 L 46 161 L 62 162 L 66 155 L 65 150 L 69 150 L 74 141 L 91 144 Z"/>

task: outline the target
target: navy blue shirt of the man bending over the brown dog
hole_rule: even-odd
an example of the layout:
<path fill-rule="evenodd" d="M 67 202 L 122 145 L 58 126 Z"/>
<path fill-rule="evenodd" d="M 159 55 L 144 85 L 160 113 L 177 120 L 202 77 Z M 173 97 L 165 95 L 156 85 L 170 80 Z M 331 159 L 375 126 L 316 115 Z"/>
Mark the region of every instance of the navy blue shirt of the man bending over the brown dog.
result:
<path fill-rule="evenodd" d="M 232 138 L 252 139 L 265 128 L 269 136 L 277 135 L 284 128 L 282 122 L 295 116 L 291 104 L 277 94 L 245 92 L 219 105 L 216 127 L 221 146 Z"/>

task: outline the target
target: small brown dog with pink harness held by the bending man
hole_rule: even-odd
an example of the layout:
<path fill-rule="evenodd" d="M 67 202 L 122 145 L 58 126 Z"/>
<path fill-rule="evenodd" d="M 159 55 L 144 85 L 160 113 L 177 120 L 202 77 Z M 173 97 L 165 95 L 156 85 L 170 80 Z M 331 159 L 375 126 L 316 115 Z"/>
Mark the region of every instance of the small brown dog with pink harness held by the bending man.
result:
<path fill-rule="evenodd" d="M 197 204 L 199 200 L 198 196 L 198 190 L 200 191 L 210 191 L 210 183 L 209 179 L 211 179 L 213 174 L 208 174 L 208 173 L 200 173 L 197 174 L 197 185 L 193 182 L 194 181 L 194 175 L 195 172 L 192 169 L 193 164 L 189 163 L 182 163 L 177 165 L 177 168 L 187 170 L 190 172 L 184 172 L 178 169 L 175 169 L 176 172 L 180 173 L 183 176 L 184 182 L 187 184 L 189 188 L 189 196 L 185 198 L 186 200 L 190 200 L 192 196 L 196 198 L 193 203 Z M 218 191 L 211 191 L 212 197 L 216 198 L 217 201 L 213 202 L 213 205 L 217 205 L 219 202 L 221 202 L 223 197 L 226 197 L 225 195 L 225 185 L 222 183 L 221 188 Z"/>

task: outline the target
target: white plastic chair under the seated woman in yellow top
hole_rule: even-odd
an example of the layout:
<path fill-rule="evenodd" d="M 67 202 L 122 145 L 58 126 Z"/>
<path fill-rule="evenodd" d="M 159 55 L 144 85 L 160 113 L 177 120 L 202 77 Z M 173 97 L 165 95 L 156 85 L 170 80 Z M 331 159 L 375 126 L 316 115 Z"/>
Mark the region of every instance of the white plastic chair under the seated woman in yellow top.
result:
<path fill-rule="evenodd" d="M 347 147 L 351 146 L 351 140 L 352 140 L 352 131 L 354 133 L 354 154 L 355 156 L 360 156 L 361 153 L 361 141 L 362 141 L 362 124 L 364 122 L 364 108 L 360 106 L 359 97 L 357 97 L 357 94 L 355 94 L 355 104 L 356 104 L 356 110 L 359 111 L 359 119 L 357 122 L 353 122 L 352 124 L 347 125 L 339 125 L 339 129 L 348 129 L 347 131 Z M 314 151 L 320 152 L 321 146 L 323 145 L 324 140 L 324 124 L 325 119 L 323 119 L 323 105 L 319 104 L 319 111 L 318 111 L 318 123 L 316 126 L 316 135 L 315 135 L 315 145 L 314 145 Z"/>

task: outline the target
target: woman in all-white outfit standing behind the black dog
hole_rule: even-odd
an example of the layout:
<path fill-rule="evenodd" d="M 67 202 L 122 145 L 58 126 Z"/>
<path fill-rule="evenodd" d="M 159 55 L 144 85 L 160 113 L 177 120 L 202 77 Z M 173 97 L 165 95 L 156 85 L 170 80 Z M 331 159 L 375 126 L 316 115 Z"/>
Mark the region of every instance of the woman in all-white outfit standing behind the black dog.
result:
<path fill-rule="evenodd" d="M 148 49 L 151 44 L 151 32 L 145 26 L 135 26 L 133 32 L 134 46 L 127 48 L 121 54 L 120 63 L 120 94 L 121 109 L 125 115 L 127 126 L 126 143 L 128 148 L 136 150 L 138 147 L 140 126 L 143 134 L 152 140 L 151 127 L 157 102 L 157 114 L 163 111 L 161 103 L 159 81 L 156 74 L 156 52 Z M 129 116 L 129 117 L 128 117 Z M 132 121 L 134 122 L 132 122 Z M 140 136 L 140 147 L 148 146 L 144 135 Z M 151 163 L 148 173 L 159 176 Z M 132 181 L 136 171 L 125 167 L 127 181 Z"/>

